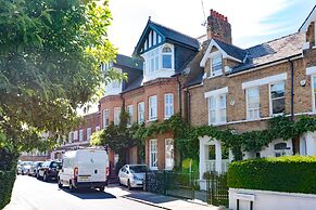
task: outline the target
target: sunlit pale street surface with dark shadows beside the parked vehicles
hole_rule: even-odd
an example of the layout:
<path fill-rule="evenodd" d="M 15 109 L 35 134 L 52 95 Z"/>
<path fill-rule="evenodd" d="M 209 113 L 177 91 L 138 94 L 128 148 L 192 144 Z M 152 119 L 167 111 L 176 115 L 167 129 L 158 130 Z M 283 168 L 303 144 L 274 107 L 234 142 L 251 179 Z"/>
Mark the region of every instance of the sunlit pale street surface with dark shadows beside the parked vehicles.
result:
<path fill-rule="evenodd" d="M 56 183 L 46 183 L 35 178 L 18 175 L 14 184 L 12 200 L 4 210 L 222 210 L 214 206 L 197 204 L 169 196 L 128 191 L 111 185 L 104 192 L 96 189 L 69 193 L 59 189 Z"/>

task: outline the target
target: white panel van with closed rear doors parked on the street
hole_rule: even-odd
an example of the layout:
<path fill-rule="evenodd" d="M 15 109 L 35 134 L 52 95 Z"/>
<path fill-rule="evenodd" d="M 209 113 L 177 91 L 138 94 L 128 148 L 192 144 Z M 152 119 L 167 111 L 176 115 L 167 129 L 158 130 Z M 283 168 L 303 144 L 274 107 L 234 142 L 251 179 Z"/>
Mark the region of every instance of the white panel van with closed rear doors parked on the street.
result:
<path fill-rule="evenodd" d="M 109 175 L 109 156 L 103 148 L 83 148 L 64 154 L 59 172 L 59 187 L 68 185 L 71 192 L 76 188 L 99 188 L 106 186 Z"/>

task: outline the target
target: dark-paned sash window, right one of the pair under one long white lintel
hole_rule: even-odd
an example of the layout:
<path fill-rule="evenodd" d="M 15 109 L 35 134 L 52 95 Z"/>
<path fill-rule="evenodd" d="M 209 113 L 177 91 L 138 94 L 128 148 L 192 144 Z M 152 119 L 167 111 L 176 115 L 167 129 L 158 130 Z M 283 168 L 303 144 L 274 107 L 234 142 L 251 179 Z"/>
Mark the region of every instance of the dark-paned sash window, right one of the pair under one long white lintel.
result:
<path fill-rule="evenodd" d="M 286 110 L 285 81 L 270 84 L 270 114 L 282 114 Z"/>

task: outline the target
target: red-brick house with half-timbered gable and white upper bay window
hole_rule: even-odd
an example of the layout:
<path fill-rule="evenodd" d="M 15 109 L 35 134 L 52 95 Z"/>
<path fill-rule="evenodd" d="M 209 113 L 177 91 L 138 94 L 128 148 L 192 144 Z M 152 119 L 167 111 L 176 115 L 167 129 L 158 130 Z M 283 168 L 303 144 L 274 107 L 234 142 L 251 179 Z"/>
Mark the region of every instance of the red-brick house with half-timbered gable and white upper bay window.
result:
<path fill-rule="evenodd" d="M 106 86 L 108 91 L 100 101 L 102 128 L 111 121 L 118 123 L 123 104 L 131 116 L 130 123 L 148 124 L 181 113 L 179 76 L 199 48 L 197 39 L 149 19 L 134 57 L 117 55 L 116 63 L 113 63 L 115 69 L 128 75 L 128 81 L 114 81 Z M 116 87 L 115 91 L 113 87 Z M 127 163 L 141 162 L 137 147 L 131 147 L 127 153 Z M 173 133 L 162 133 L 146 141 L 144 162 L 151 169 L 173 169 L 174 156 Z M 110 161 L 115 166 L 113 153 Z"/>

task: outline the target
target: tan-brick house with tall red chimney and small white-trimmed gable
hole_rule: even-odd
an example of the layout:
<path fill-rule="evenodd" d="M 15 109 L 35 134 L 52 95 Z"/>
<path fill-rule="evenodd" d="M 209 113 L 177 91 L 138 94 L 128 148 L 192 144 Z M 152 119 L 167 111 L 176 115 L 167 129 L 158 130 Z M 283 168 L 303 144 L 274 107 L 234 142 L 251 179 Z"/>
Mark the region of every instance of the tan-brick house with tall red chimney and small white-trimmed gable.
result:
<path fill-rule="evenodd" d="M 295 34 L 249 49 L 232 44 L 227 17 L 211 10 L 207 41 L 188 64 L 187 118 L 193 126 L 231 128 L 238 133 L 263 130 L 277 115 L 315 115 L 315 9 Z M 275 140 L 245 158 L 316 155 L 316 135 Z M 200 176 L 226 171 L 232 154 L 220 142 L 200 137 Z"/>

